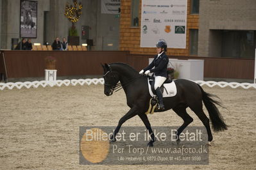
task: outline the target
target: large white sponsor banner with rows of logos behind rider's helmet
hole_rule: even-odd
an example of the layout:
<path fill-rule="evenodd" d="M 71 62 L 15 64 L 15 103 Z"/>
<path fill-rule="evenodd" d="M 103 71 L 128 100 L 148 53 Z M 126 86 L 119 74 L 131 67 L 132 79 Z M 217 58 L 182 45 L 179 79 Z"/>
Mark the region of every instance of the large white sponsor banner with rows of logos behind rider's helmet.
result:
<path fill-rule="evenodd" d="M 185 49 L 187 0 L 142 0 L 141 47 L 165 40 L 168 48 Z"/>

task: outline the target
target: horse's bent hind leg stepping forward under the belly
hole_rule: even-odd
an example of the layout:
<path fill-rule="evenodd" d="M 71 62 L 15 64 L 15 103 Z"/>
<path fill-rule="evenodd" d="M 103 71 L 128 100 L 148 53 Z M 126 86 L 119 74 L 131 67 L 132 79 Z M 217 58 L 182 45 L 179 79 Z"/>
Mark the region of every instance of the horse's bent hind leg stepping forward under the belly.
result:
<path fill-rule="evenodd" d="M 177 143 L 180 143 L 180 134 L 193 121 L 193 118 L 187 114 L 186 107 L 175 107 L 173 108 L 173 111 L 175 111 L 184 121 L 182 126 L 176 131 Z"/>

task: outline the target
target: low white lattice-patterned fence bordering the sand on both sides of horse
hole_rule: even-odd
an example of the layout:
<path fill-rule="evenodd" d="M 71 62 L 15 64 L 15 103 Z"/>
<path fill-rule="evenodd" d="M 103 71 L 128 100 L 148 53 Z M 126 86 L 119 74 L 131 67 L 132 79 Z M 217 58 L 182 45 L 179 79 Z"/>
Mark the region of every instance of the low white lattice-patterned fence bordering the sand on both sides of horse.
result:
<path fill-rule="evenodd" d="M 239 82 L 215 82 L 215 81 L 194 81 L 198 84 L 200 84 L 200 86 L 206 85 L 209 86 L 210 88 L 214 87 L 214 86 L 219 86 L 221 88 L 225 88 L 226 86 L 229 86 L 230 88 L 244 88 L 244 89 L 248 89 L 248 88 L 255 88 L 256 89 L 256 84 L 252 84 L 252 83 L 247 83 L 247 82 L 243 82 L 243 83 L 239 83 Z M 39 86 L 42 86 L 43 88 L 45 88 L 46 86 L 76 86 L 76 85 L 81 85 L 83 86 L 84 84 L 87 85 L 91 85 L 91 84 L 104 84 L 104 79 L 100 78 L 100 79 L 72 79 L 72 80 L 57 80 L 57 81 L 26 81 L 26 82 L 7 82 L 7 83 L 2 83 L 0 82 L 0 90 L 3 89 L 13 89 L 13 88 L 17 88 L 17 89 L 21 89 L 21 88 L 38 88 Z"/>

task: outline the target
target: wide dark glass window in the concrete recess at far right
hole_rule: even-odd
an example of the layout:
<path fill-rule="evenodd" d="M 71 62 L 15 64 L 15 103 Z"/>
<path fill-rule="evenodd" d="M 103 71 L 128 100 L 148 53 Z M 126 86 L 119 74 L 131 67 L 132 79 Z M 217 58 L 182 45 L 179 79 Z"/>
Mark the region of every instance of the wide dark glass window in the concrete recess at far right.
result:
<path fill-rule="evenodd" d="M 222 31 L 221 57 L 254 58 L 255 31 Z"/>

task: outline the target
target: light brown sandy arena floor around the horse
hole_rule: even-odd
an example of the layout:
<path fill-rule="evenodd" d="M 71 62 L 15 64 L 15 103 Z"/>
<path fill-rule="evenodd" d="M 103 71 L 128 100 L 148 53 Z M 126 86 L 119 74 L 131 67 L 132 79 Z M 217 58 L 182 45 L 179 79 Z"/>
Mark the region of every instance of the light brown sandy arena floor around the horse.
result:
<path fill-rule="evenodd" d="M 123 91 L 106 97 L 103 85 L 78 85 L 0 91 L 0 169 L 255 169 L 256 89 L 203 89 L 221 98 L 226 109 L 219 111 L 229 125 L 213 132 L 209 165 L 80 165 L 79 127 L 116 126 L 129 108 Z M 203 125 L 188 112 L 190 126 Z M 183 123 L 173 111 L 148 117 L 152 126 Z M 144 125 L 135 116 L 123 126 Z"/>

